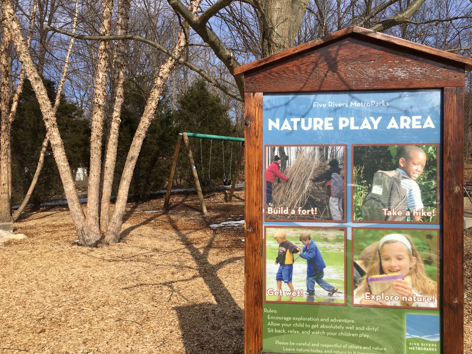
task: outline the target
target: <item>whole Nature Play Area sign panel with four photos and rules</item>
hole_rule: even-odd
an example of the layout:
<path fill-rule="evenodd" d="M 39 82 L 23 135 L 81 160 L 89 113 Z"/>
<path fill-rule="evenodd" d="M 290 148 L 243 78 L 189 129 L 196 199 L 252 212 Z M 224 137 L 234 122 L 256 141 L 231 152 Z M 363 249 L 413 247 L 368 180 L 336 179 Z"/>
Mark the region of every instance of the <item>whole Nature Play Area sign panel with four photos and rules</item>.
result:
<path fill-rule="evenodd" d="M 265 353 L 440 353 L 441 90 L 264 94 Z"/>

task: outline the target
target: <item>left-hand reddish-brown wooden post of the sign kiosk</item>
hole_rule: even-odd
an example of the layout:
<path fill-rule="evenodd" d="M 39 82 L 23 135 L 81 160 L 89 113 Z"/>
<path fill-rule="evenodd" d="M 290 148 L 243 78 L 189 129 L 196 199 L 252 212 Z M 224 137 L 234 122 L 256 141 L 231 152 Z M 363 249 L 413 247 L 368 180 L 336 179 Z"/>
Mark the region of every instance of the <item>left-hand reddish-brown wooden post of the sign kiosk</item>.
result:
<path fill-rule="evenodd" d="M 262 350 L 262 93 L 244 93 L 244 354 Z"/>

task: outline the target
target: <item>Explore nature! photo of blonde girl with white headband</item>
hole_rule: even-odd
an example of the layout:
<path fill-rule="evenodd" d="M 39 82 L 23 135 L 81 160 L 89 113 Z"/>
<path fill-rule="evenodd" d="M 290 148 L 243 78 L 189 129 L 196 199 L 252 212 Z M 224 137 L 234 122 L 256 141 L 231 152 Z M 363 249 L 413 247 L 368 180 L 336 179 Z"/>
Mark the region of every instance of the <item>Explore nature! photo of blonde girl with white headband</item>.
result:
<path fill-rule="evenodd" d="M 437 309 L 438 230 L 353 229 L 353 304 Z"/>

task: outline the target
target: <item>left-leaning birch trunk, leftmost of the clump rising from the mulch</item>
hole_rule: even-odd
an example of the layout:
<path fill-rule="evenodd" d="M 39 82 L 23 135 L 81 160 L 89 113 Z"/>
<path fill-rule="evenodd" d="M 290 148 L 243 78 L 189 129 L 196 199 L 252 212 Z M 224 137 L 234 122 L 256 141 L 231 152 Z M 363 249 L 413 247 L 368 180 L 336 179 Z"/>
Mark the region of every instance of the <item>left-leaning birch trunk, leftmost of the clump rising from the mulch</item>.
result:
<path fill-rule="evenodd" d="M 79 242 L 85 244 L 83 232 L 85 222 L 84 212 L 82 211 L 79 198 L 77 197 L 74 179 L 72 178 L 72 174 L 70 172 L 66 152 L 64 151 L 64 144 L 62 143 L 62 139 L 59 134 L 56 117 L 52 114 L 53 109 L 51 102 L 49 101 L 46 88 L 42 83 L 42 79 L 34 67 L 33 60 L 31 59 L 25 39 L 21 33 L 21 27 L 18 23 L 17 16 L 13 11 L 11 2 L 9 0 L 0 0 L 0 6 L 4 17 L 4 24 L 11 33 L 18 57 L 22 63 L 22 66 L 25 67 L 26 74 L 30 79 L 34 93 L 36 94 L 36 98 L 39 102 L 42 118 L 46 126 L 49 140 L 51 141 L 52 152 L 58 166 L 59 175 L 62 185 L 64 186 L 64 193 L 66 194 L 67 204 L 71 212 Z"/>

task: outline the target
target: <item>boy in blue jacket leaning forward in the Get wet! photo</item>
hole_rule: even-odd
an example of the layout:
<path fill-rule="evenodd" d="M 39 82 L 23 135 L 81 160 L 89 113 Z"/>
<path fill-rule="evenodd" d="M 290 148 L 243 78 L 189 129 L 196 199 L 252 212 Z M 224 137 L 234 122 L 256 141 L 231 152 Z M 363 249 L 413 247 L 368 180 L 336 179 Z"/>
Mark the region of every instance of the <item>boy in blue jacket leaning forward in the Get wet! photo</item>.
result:
<path fill-rule="evenodd" d="M 300 235 L 300 241 L 302 241 L 303 249 L 298 247 L 298 250 L 302 251 L 300 257 L 306 259 L 306 291 L 308 295 L 315 294 L 316 282 L 320 287 L 328 291 L 328 296 L 333 296 L 339 289 L 333 287 L 326 280 L 323 280 L 323 270 L 326 268 L 326 264 L 323 261 L 320 250 L 307 232 L 303 232 Z"/>

